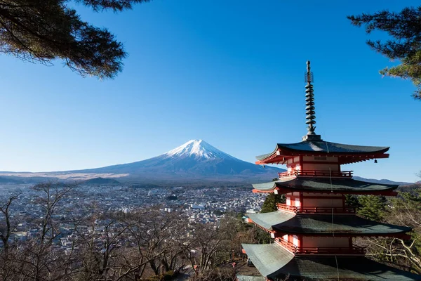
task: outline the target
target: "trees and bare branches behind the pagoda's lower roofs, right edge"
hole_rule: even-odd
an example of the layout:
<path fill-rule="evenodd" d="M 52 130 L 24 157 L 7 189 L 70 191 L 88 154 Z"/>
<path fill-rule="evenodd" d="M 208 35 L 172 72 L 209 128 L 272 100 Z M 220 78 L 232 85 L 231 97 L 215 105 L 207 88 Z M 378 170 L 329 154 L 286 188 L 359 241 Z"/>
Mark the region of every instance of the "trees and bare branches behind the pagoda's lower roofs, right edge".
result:
<path fill-rule="evenodd" d="M 347 202 L 357 207 L 357 214 L 365 218 L 408 226 L 410 239 L 401 237 L 366 237 L 356 240 L 356 244 L 366 247 L 367 256 L 414 273 L 421 273 L 421 189 L 415 184 L 409 192 L 399 192 L 398 197 L 360 195 L 347 198 Z"/>

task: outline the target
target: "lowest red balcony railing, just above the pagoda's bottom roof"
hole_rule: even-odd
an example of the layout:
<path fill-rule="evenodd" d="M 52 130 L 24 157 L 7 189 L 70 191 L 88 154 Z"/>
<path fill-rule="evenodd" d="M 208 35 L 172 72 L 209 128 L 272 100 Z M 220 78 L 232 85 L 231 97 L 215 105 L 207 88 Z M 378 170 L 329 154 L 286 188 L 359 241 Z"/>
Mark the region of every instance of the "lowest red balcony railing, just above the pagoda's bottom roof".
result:
<path fill-rule="evenodd" d="M 305 256 L 305 255 L 338 255 L 338 256 L 363 256 L 365 254 L 365 249 L 363 247 L 358 247 L 352 245 L 351 247 L 298 247 L 295 244 L 283 240 L 275 240 L 276 244 L 281 245 L 288 251 L 292 252 L 296 256 Z"/>

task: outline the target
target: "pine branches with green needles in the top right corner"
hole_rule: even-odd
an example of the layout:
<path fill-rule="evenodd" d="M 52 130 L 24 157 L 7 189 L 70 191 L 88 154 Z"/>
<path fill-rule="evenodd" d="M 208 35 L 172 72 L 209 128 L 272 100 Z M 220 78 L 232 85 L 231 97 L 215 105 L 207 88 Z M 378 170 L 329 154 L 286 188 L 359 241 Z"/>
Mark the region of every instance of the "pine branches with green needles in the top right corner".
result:
<path fill-rule="evenodd" d="M 421 6 L 404 8 L 399 13 L 385 10 L 373 14 L 349 15 L 347 18 L 353 25 L 364 26 L 368 34 L 380 30 L 392 37 L 385 42 L 367 41 L 373 50 L 401 63 L 386 67 L 380 74 L 410 79 L 417 88 L 413 97 L 421 99 Z"/>

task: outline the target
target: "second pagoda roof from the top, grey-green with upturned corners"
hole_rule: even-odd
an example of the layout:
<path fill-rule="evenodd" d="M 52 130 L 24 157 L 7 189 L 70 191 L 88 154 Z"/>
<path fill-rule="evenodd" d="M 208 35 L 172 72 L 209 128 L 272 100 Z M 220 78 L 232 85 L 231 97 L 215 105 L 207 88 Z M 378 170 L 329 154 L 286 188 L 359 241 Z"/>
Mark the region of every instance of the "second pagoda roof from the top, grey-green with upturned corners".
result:
<path fill-rule="evenodd" d="M 270 192 L 278 190 L 279 193 L 288 192 L 340 192 L 352 194 L 385 194 L 392 192 L 399 185 L 383 183 L 368 183 L 356 181 L 352 178 L 281 178 L 279 181 L 269 183 L 255 183 L 255 192 Z"/>

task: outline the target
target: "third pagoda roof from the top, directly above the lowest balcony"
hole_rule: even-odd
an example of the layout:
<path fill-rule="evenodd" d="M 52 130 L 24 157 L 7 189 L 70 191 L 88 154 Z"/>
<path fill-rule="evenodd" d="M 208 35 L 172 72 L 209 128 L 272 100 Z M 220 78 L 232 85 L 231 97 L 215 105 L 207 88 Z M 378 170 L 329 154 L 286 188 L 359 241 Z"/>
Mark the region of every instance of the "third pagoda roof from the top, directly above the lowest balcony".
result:
<path fill-rule="evenodd" d="M 249 214 L 253 223 L 267 229 L 288 234 L 376 236 L 403 235 L 411 230 L 406 226 L 377 223 L 355 215 L 293 214 L 288 211 L 272 211 Z"/>

